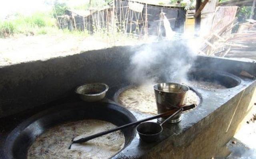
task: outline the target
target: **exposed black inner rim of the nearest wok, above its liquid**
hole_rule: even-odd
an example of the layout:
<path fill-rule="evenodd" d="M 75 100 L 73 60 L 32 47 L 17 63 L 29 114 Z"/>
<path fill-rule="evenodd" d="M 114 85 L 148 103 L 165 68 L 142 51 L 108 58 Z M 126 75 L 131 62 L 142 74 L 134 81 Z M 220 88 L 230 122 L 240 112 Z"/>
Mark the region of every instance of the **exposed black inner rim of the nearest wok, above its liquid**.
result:
<path fill-rule="evenodd" d="M 99 119 L 117 126 L 136 121 L 136 118 L 130 111 L 113 103 L 86 103 L 80 101 L 57 105 L 33 115 L 12 130 L 4 143 L 4 159 L 26 159 L 30 145 L 46 129 L 68 121 L 72 122 L 82 119 Z M 126 128 L 122 132 L 125 137 L 125 148 L 134 139 L 136 129 Z M 70 142 L 71 139 L 70 135 Z"/>

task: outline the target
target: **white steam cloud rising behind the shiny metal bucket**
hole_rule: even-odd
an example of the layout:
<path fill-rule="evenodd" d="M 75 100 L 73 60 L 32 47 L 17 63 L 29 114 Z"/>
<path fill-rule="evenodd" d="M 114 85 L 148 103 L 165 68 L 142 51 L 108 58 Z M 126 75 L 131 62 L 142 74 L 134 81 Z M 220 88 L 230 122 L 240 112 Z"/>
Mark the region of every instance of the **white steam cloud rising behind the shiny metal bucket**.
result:
<path fill-rule="evenodd" d="M 195 41 L 162 41 L 143 46 L 131 58 L 131 82 L 156 83 L 158 75 L 164 71 L 162 79 L 166 82 L 186 83 L 188 71 L 196 59 Z"/>

